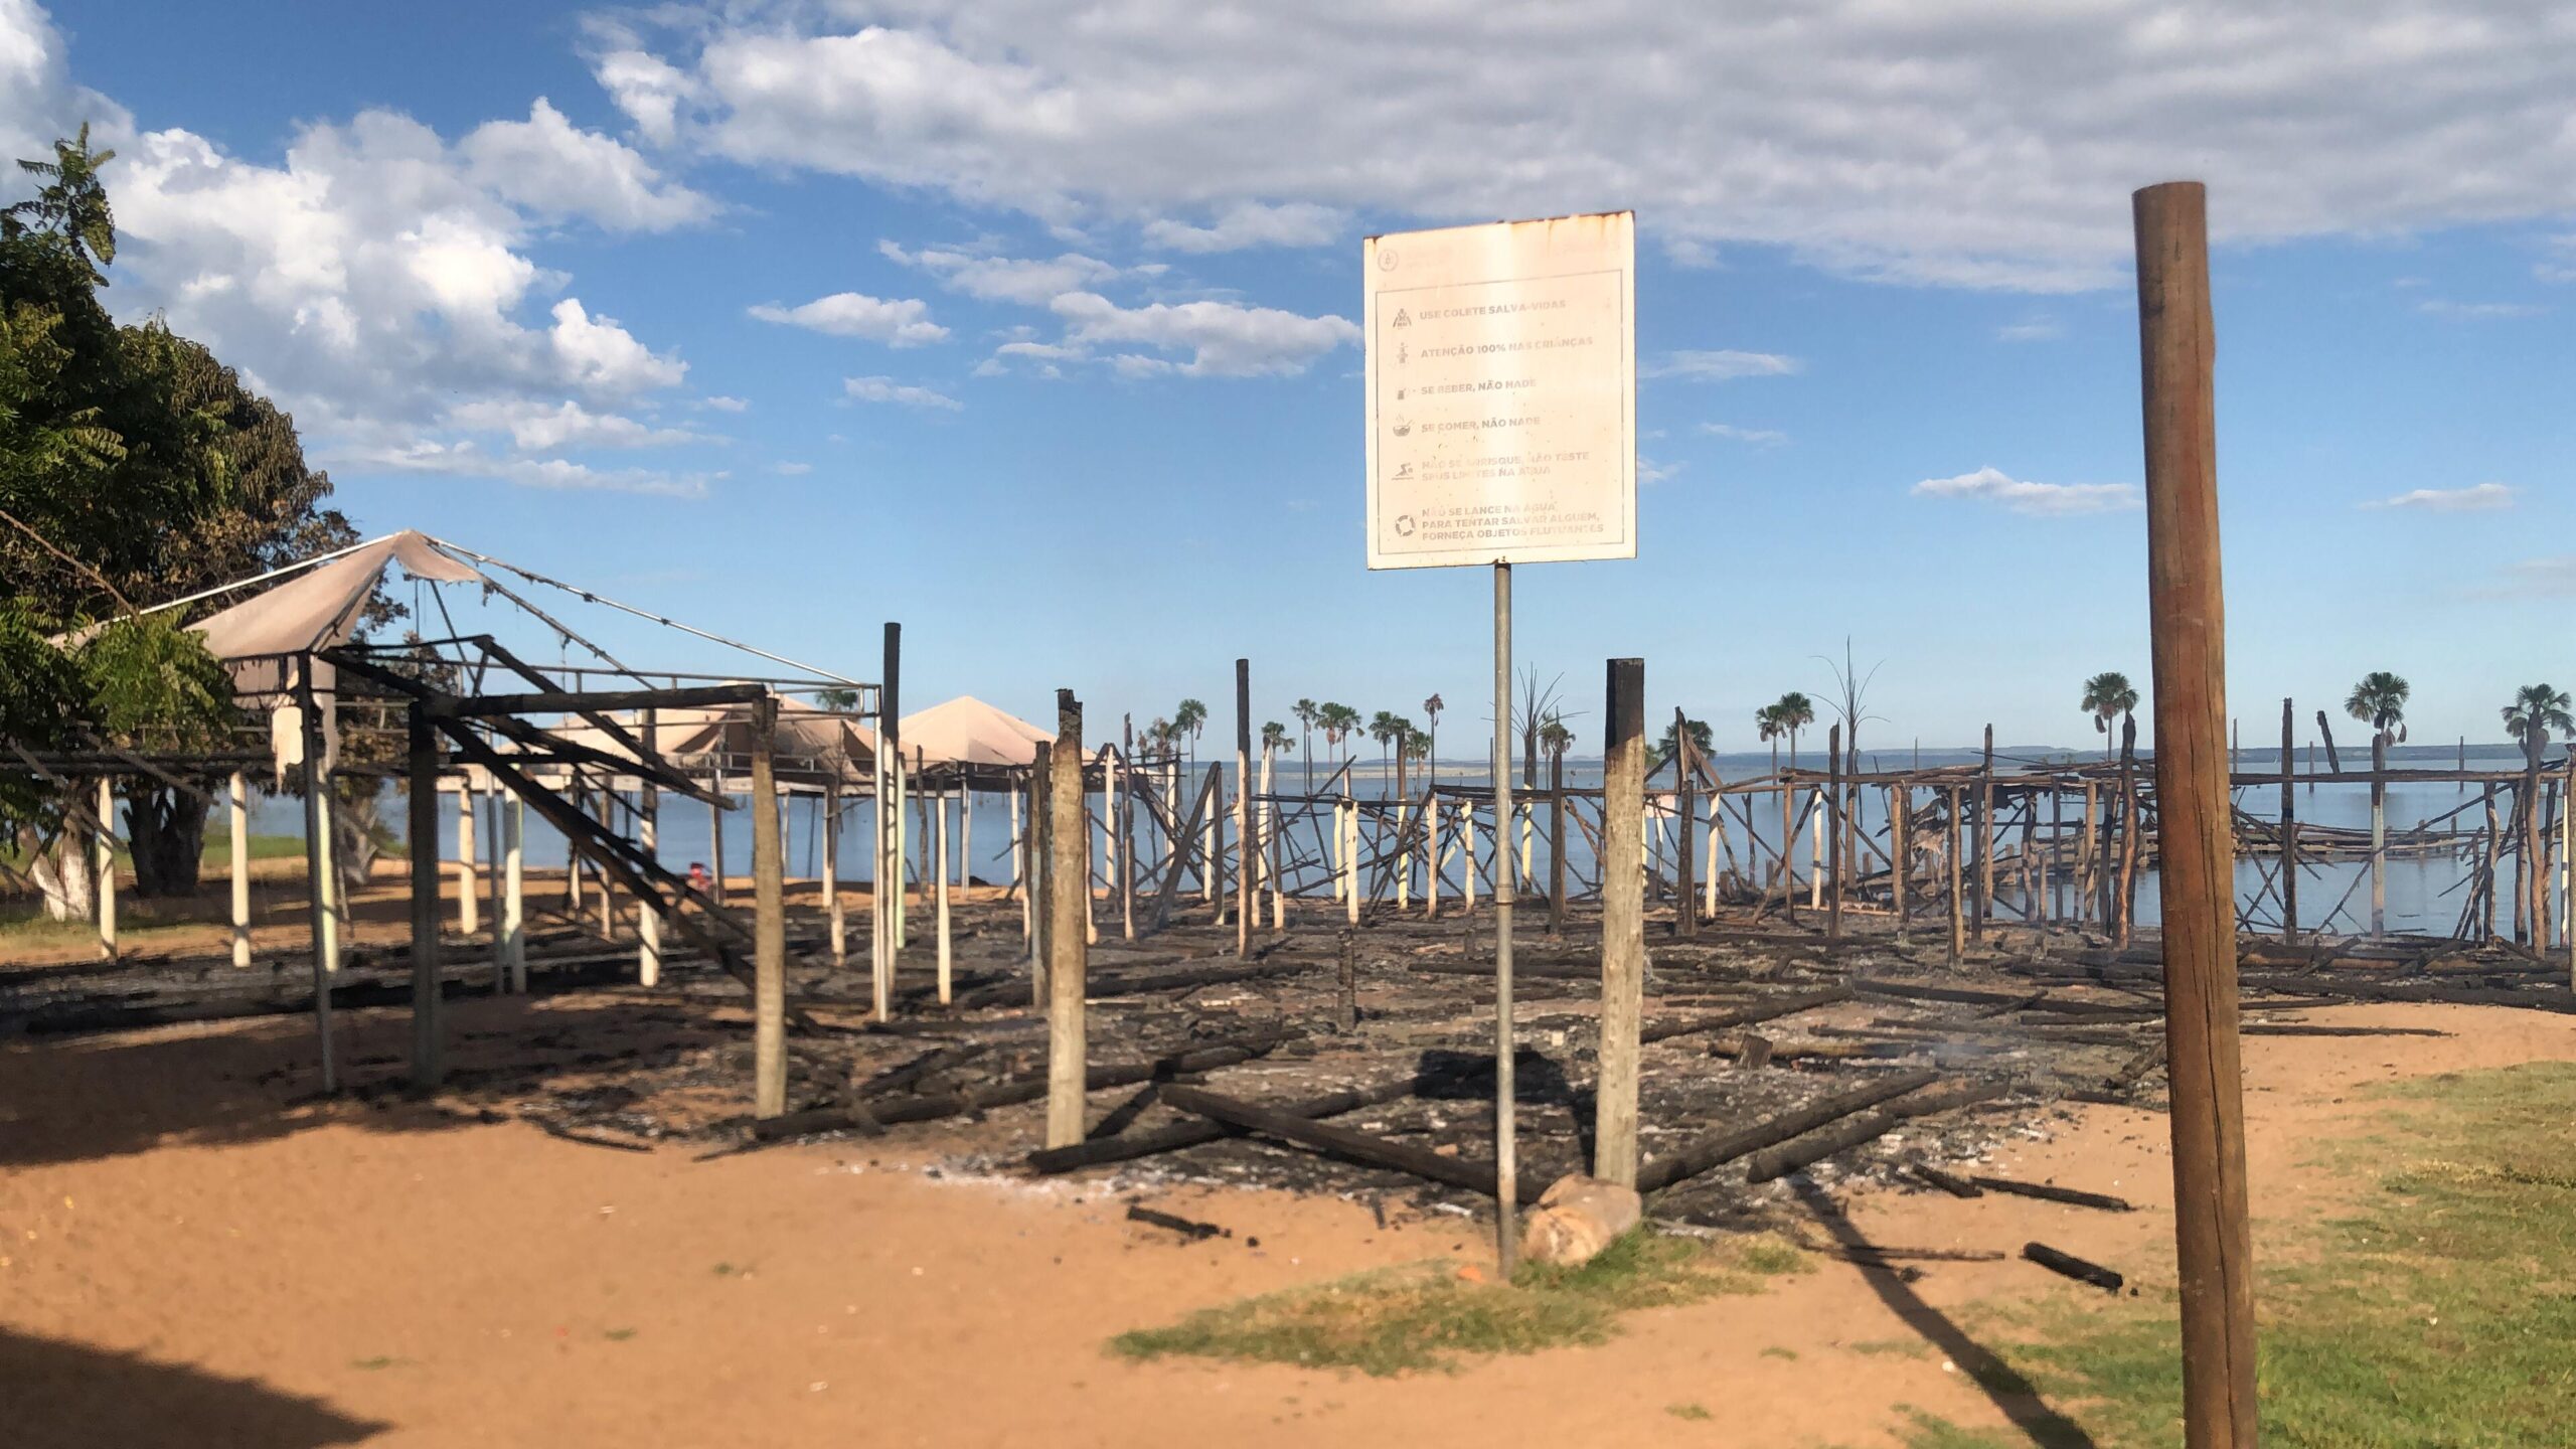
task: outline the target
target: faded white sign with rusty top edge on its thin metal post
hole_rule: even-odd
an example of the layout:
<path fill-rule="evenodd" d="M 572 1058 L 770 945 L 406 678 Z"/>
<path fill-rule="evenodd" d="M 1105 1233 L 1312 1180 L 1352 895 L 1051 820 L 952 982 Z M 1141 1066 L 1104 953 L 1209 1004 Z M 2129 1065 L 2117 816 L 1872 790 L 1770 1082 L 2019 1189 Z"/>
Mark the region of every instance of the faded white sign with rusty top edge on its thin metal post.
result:
<path fill-rule="evenodd" d="M 1368 567 L 1494 567 L 1494 1230 L 1510 1279 L 1512 565 L 1636 557 L 1636 217 L 1368 237 L 1360 273 Z"/>

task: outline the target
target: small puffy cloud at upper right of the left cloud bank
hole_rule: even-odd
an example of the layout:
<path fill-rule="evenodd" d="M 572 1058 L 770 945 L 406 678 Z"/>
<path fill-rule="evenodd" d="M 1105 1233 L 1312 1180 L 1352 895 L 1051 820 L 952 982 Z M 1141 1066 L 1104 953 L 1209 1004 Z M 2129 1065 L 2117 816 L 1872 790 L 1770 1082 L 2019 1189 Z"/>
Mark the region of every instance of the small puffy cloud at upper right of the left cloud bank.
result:
<path fill-rule="evenodd" d="M 706 196 L 662 180 L 639 152 L 585 131 L 544 95 L 526 121 L 484 121 L 456 142 L 466 175 L 536 217 L 585 217 L 616 232 L 667 232 L 714 217 Z"/>

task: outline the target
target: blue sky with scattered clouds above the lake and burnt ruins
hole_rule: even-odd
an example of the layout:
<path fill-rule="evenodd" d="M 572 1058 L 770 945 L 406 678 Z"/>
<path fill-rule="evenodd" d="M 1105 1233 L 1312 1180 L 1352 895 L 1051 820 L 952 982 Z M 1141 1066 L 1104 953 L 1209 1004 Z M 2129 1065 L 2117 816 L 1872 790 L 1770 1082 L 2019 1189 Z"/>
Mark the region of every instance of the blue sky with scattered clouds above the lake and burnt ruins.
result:
<path fill-rule="evenodd" d="M 0 139 L 118 144 L 111 299 L 366 531 L 860 678 L 902 619 L 912 701 L 1440 691 L 1443 755 L 1489 580 L 1363 570 L 1365 232 L 1638 211 L 1638 559 L 1517 593 L 1587 719 L 1643 655 L 1749 748 L 1850 637 L 1875 743 L 2087 745 L 2148 676 L 2128 191 L 2208 178 L 2249 740 L 2576 683 L 2563 10 L 1275 10 L 0 0 Z"/>

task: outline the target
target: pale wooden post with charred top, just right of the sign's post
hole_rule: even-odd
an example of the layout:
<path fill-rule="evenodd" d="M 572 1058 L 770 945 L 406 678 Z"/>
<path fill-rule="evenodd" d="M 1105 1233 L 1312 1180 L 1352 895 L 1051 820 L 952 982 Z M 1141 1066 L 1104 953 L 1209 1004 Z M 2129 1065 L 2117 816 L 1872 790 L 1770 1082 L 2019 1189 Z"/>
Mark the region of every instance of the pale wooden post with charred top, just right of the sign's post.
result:
<path fill-rule="evenodd" d="M 1646 660 L 1610 660 L 1602 758 L 1602 1047 L 1592 1176 L 1636 1186 L 1638 1021 L 1646 1011 Z M 1687 740 L 1687 735 L 1685 735 Z M 1687 748 L 1687 743 L 1682 745 Z M 1690 910 L 1690 882 L 1682 882 Z"/>

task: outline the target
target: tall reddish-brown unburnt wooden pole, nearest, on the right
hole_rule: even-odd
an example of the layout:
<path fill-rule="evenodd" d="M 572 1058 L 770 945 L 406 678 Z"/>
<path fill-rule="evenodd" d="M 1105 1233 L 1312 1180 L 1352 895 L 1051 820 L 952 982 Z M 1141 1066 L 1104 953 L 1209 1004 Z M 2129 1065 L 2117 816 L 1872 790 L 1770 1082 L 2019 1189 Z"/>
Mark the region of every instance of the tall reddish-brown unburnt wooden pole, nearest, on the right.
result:
<path fill-rule="evenodd" d="M 2136 227 L 2182 1431 L 2190 1449 L 2251 1449 L 2254 1243 L 2236 1052 L 2236 841 L 2202 186 L 2138 191 Z"/>

